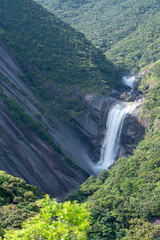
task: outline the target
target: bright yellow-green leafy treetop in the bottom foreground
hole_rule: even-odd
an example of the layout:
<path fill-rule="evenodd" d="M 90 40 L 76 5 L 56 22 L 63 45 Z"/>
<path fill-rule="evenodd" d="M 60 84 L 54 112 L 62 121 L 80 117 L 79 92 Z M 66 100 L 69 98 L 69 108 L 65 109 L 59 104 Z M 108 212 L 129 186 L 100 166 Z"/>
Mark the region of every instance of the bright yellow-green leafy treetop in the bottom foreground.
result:
<path fill-rule="evenodd" d="M 46 196 L 39 205 L 41 207 L 39 214 L 24 223 L 22 230 L 7 233 L 6 240 L 87 239 L 90 214 L 84 204 L 57 203 Z"/>

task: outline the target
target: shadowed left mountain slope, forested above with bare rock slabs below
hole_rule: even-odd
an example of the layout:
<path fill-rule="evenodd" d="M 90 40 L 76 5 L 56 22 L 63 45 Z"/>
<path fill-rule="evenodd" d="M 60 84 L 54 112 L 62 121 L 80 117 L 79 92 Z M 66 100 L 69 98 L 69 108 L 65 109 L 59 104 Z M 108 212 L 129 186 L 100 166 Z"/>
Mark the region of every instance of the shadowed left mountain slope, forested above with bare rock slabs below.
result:
<path fill-rule="evenodd" d="M 68 120 L 84 93 L 109 94 L 113 64 L 34 1 L 2 0 L 0 80 L 0 169 L 59 199 L 77 189 L 93 172 Z"/>

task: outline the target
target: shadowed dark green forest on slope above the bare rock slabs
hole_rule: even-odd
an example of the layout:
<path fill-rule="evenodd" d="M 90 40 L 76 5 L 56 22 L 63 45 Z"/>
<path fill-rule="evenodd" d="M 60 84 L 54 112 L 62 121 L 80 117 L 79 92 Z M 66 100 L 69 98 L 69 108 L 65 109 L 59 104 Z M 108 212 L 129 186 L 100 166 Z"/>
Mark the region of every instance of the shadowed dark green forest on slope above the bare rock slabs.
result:
<path fill-rule="evenodd" d="M 21 78 L 59 114 L 83 110 L 78 92 L 109 94 L 119 81 L 83 34 L 32 0 L 0 2 L 0 37 L 21 63 Z"/>

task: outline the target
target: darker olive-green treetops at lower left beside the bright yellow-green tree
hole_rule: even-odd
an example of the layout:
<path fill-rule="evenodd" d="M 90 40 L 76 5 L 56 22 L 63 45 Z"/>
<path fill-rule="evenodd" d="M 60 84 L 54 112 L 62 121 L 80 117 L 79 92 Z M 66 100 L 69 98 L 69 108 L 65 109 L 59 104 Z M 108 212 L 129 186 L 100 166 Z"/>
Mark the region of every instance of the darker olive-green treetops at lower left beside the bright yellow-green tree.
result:
<path fill-rule="evenodd" d="M 0 171 L 0 236 L 4 229 L 20 228 L 23 221 L 38 211 L 38 189 Z"/>

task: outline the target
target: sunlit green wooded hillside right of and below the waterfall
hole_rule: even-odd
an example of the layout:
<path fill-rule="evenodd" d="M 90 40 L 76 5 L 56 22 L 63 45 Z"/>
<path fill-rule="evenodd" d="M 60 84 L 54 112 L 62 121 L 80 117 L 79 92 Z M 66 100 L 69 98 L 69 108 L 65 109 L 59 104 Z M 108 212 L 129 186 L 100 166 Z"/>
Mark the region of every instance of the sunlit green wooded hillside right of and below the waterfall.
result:
<path fill-rule="evenodd" d="M 120 158 L 98 178 L 91 176 L 69 197 L 87 202 L 90 239 L 159 239 L 160 221 L 160 63 L 142 76 L 147 97 L 142 116 L 148 128 L 134 155 Z M 153 225 L 152 225 L 152 224 Z"/>

